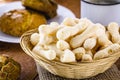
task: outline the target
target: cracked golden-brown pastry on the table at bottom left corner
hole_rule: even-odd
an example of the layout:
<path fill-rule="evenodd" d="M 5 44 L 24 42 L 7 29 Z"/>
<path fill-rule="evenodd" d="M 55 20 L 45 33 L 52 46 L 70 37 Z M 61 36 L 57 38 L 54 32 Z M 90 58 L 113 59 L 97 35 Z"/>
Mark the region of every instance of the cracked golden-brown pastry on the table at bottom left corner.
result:
<path fill-rule="evenodd" d="M 18 62 L 0 55 L 0 80 L 17 80 L 20 73 L 21 66 Z"/>

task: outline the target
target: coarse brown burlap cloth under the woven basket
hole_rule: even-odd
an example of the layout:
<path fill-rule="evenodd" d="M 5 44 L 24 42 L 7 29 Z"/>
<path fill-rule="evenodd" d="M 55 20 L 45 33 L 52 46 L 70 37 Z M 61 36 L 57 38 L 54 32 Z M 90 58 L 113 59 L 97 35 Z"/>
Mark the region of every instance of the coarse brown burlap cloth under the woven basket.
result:
<path fill-rule="evenodd" d="M 120 63 L 120 62 L 119 62 Z M 117 63 L 118 64 L 118 63 Z M 39 79 L 40 80 L 80 80 L 80 79 L 66 79 L 56 75 L 51 74 L 47 70 L 43 69 L 42 67 L 39 68 Z M 88 78 L 88 79 L 81 79 L 81 80 L 120 80 L 120 71 L 116 64 L 114 64 L 110 69 L 105 71 L 102 74 L 97 76 Z"/>

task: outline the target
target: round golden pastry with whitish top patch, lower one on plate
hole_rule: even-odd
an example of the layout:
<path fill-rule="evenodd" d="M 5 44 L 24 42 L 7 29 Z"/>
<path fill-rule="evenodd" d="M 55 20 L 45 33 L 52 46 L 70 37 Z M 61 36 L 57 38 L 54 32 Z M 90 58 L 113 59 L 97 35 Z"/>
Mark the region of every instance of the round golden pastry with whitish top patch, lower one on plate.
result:
<path fill-rule="evenodd" d="M 25 9 L 12 10 L 0 17 L 1 31 L 13 36 L 21 36 L 27 30 L 45 23 L 46 18 L 42 14 Z"/>

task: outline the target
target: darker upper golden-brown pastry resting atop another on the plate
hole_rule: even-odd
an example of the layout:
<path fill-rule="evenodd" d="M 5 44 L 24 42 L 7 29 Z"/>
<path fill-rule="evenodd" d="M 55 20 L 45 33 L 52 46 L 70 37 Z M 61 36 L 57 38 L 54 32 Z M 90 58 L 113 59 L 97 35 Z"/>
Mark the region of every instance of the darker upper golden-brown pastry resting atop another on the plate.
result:
<path fill-rule="evenodd" d="M 25 7 L 43 12 L 48 18 L 57 15 L 57 3 L 54 0 L 22 0 Z"/>

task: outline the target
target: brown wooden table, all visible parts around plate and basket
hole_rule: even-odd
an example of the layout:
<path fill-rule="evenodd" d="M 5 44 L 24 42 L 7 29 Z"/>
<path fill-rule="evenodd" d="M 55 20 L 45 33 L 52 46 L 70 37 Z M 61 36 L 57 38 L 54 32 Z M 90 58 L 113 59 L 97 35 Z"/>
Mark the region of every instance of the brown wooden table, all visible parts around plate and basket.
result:
<path fill-rule="evenodd" d="M 0 3 L 13 0 L 0 0 Z M 56 0 L 58 4 L 69 8 L 77 18 L 80 17 L 80 0 Z M 19 44 L 0 42 L 0 54 L 13 57 L 22 66 L 19 80 L 38 80 L 36 65 L 34 60 L 26 55 Z"/>

